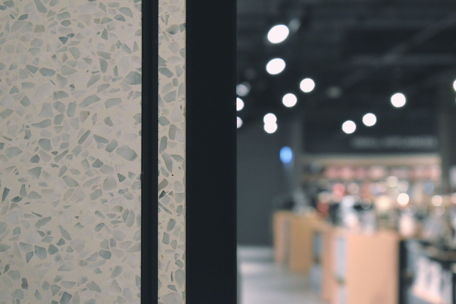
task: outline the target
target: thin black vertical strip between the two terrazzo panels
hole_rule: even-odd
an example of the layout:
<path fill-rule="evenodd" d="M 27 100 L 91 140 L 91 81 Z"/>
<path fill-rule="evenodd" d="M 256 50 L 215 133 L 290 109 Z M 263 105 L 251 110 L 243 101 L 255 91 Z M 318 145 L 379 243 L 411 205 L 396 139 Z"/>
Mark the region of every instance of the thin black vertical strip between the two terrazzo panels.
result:
<path fill-rule="evenodd" d="M 141 303 L 158 301 L 158 0 L 142 1 Z"/>

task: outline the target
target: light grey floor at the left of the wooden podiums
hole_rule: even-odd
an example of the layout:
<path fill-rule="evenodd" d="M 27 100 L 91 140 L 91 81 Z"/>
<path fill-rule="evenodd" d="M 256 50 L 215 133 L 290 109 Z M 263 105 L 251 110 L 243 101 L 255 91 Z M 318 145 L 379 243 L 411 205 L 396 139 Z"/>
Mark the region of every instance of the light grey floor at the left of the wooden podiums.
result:
<path fill-rule="evenodd" d="M 238 247 L 240 304 L 322 304 L 307 275 L 275 265 L 272 248 Z"/>

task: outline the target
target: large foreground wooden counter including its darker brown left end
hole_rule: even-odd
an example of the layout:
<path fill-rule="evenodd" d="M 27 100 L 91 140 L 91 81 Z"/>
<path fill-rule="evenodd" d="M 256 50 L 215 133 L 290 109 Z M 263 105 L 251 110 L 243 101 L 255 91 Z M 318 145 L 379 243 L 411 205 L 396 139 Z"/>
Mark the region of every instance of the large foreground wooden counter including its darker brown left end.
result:
<path fill-rule="evenodd" d="M 314 231 L 312 285 L 330 304 L 397 304 L 399 236 L 322 223 Z"/>

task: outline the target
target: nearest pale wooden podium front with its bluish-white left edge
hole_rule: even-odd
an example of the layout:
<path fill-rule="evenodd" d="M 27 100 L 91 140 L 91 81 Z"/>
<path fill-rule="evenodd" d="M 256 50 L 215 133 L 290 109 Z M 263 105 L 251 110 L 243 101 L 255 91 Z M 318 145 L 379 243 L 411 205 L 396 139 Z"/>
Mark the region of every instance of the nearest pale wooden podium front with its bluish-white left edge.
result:
<path fill-rule="evenodd" d="M 332 264 L 326 266 L 332 268 L 330 303 L 398 304 L 399 236 L 339 228 L 331 237 Z"/>

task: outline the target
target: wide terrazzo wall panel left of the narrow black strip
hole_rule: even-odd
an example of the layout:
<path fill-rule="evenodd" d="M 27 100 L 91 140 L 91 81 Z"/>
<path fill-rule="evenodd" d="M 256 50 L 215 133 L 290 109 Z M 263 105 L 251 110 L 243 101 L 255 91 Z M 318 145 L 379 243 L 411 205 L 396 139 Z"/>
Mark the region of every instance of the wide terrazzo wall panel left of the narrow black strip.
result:
<path fill-rule="evenodd" d="M 0 3 L 0 304 L 140 303 L 140 5 Z"/>

